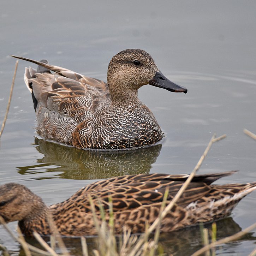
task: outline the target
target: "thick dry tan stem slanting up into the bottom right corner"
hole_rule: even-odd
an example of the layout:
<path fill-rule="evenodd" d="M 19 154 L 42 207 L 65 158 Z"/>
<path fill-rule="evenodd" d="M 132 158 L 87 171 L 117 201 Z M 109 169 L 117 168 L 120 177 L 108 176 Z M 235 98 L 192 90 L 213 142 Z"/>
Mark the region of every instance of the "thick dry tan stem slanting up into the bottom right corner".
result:
<path fill-rule="evenodd" d="M 225 243 L 237 240 L 238 238 L 244 236 L 246 233 L 253 230 L 254 228 L 256 228 L 256 222 L 254 224 L 252 224 L 251 226 L 245 228 L 244 230 L 242 230 L 236 234 L 233 234 L 232 236 L 222 238 L 222 239 L 218 240 L 217 242 L 210 243 L 209 245 L 204 246 L 200 250 L 194 252 L 194 254 L 192 254 L 191 256 L 199 256 L 199 255 L 203 254 L 204 252 L 208 251 L 209 249 L 216 247 L 216 245 L 225 244 Z"/>

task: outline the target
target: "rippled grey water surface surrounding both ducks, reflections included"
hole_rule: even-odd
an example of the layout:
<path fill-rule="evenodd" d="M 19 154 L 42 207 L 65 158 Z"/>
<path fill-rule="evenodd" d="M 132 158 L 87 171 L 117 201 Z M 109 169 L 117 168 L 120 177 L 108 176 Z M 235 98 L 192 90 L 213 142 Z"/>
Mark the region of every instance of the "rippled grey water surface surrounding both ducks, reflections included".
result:
<path fill-rule="evenodd" d="M 256 180 L 256 2 L 254 1 L 1 1 L 0 121 L 15 60 L 10 54 L 106 81 L 109 60 L 120 50 L 141 48 L 162 73 L 188 89 L 171 93 L 145 85 L 139 98 L 165 132 L 161 145 L 127 153 L 92 153 L 35 138 L 35 112 L 20 61 L 8 120 L 1 137 L 0 182 L 28 186 L 47 204 L 65 200 L 97 179 L 133 173 L 190 173 L 216 132 L 200 173 L 240 172 L 220 184 Z M 230 218 L 217 222 L 218 238 L 255 222 L 256 192 Z M 9 224 L 15 232 L 17 222 Z M 256 230 L 255 230 L 256 231 Z M 255 231 L 221 246 L 218 255 L 248 255 Z M 35 243 L 35 241 L 30 241 Z M 66 239 L 81 254 L 77 239 Z M 93 244 L 93 239 L 91 240 Z M 161 234 L 164 250 L 189 255 L 199 249 L 199 227 Z M 0 227 L 0 244 L 23 254 Z"/>

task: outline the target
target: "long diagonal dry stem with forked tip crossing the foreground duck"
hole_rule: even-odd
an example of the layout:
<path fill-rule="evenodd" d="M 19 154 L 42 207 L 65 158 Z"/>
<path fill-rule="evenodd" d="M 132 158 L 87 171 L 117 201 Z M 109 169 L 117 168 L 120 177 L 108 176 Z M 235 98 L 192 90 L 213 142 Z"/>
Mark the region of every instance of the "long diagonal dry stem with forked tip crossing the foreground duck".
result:
<path fill-rule="evenodd" d="M 141 248 L 143 241 L 144 241 L 144 237 L 147 237 L 151 232 L 153 232 L 155 230 L 155 228 L 157 227 L 157 225 L 159 225 L 160 223 L 160 219 L 164 218 L 166 216 L 166 214 L 173 208 L 174 204 L 179 200 L 179 198 L 181 197 L 181 195 L 183 194 L 183 192 L 186 190 L 187 186 L 189 185 L 189 183 L 191 182 L 191 180 L 194 178 L 197 170 L 201 167 L 203 160 L 205 159 L 206 155 L 208 154 L 210 147 L 212 146 L 212 144 L 216 141 L 219 141 L 220 139 L 225 138 L 226 135 L 222 135 L 218 138 L 216 138 L 216 133 L 214 133 L 213 137 L 210 139 L 207 148 L 204 150 L 203 155 L 200 157 L 199 161 L 197 162 L 197 165 L 195 166 L 195 168 L 193 169 L 193 171 L 191 172 L 191 174 L 189 175 L 189 177 L 186 179 L 186 181 L 184 182 L 184 184 L 181 186 L 181 188 L 179 189 L 178 193 L 175 195 L 175 197 L 173 198 L 173 200 L 166 206 L 166 208 L 163 210 L 162 214 L 161 214 L 161 218 L 157 218 L 153 224 L 148 228 L 147 232 L 145 232 L 141 238 L 139 239 L 138 243 L 136 244 L 136 246 L 133 248 L 133 250 L 130 253 L 130 256 L 134 256 L 136 254 L 136 252 L 139 250 L 139 248 Z"/>

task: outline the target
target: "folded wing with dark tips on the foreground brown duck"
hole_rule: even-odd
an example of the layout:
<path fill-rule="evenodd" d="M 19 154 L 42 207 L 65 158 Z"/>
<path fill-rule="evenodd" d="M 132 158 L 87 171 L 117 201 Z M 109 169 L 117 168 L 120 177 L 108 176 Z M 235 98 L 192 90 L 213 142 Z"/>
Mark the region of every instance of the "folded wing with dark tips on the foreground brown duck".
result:
<path fill-rule="evenodd" d="M 212 190 L 212 186 L 209 183 L 233 172 L 196 175 L 194 177 L 195 180 L 192 180 L 177 204 L 179 207 L 184 208 L 192 202 L 207 197 Z M 56 210 L 59 208 L 63 212 L 65 209 L 69 209 L 71 205 L 76 205 L 83 212 L 90 213 L 91 198 L 96 211 L 100 211 L 101 207 L 108 211 L 110 206 L 109 198 L 111 198 L 114 212 L 132 210 L 140 206 L 161 203 L 166 189 L 168 189 L 168 203 L 177 194 L 188 176 L 187 174 L 168 175 L 155 173 L 126 175 L 100 180 L 82 188 L 68 200 L 55 204 L 51 208 Z M 211 182 L 209 179 L 211 179 Z"/>

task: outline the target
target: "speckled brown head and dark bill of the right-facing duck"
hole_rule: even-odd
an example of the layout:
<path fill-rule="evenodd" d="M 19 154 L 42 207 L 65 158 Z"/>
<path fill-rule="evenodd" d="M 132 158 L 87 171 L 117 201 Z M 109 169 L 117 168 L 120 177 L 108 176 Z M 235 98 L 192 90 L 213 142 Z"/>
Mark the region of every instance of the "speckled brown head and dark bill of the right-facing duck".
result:
<path fill-rule="evenodd" d="M 153 58 L 141 49 L 126 49 L 116 54 L 108 66 L 107 82 L 113 98 L 137 92 L 150 84 L 175 93 L 187 93 L 183 86 L 171 82 L 157 68 Z"/>

